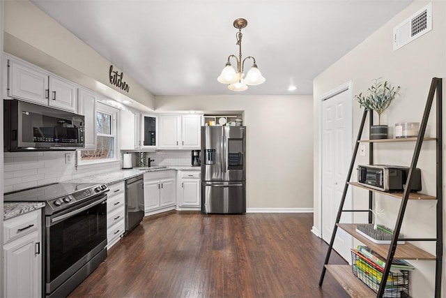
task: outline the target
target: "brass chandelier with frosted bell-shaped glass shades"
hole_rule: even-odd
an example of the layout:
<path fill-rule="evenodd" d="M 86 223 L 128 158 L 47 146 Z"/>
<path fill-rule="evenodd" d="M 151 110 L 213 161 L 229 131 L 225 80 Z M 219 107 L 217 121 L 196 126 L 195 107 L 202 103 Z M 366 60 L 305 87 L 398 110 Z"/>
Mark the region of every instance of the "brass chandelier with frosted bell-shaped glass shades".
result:
<path fill-rule="evenodd" d="M 245 91 L 248 89 L 247 85 L 259 85 L 265 82 L 265 77 L 260 73 L 257 68 L 256 59 L 252 56 L 248 56 L 242 60 L 242 29 L 247 26 L 248 22 L 245 19 L 237 19 L 233 22 L 234 27 L 238 29 L 236 33 L 236 39 L 238 45 L 238 57 L 236 55 L 230 55 L 226 66 L 222 70 L 220 77 L 217 77 L 217 81 L 222 84 L 229 84 L 228 89 L 232 91 Z M 231 66 L 231 57 L 237 61 L 237 71 Z M 252 59 L 253 64 L 248 73 L 243 73 L 246 59 Z"/>

